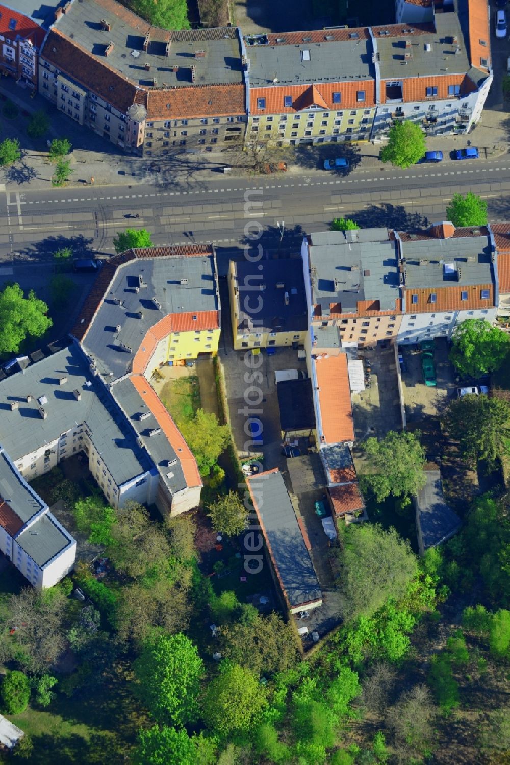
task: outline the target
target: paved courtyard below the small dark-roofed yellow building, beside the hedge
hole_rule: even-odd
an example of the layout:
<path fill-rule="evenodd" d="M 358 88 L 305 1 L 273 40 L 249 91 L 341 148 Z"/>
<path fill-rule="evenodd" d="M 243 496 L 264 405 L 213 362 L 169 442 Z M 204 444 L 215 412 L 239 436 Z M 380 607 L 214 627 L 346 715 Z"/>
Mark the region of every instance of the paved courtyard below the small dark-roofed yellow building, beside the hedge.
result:
<path fill-rule="evenodd" d="M 225 370 L 226 393 L 229 404 L 230 422 L 236 448 L 240 456 L 248 456 L 245 445 L 250 440 L 245 430 L 250 416 L 260 419 L 262 441 L 260 449 L 264 455 L 264 467 L 284 469 L 281 456 L 280 413 L 278 395 L 274 382 L 277 369 L 298 369 L 306 372 L 305 360 L 297 358 L 293 348 L 277 348 L 274 356 L 268 356 L 264 349 L 259 356 L 251 353 L 220 348 L 219 358 Z M 249 366 L 252 358 L 253 367 Z M 256 451 L 255 447 L 252 451 Z"/>

